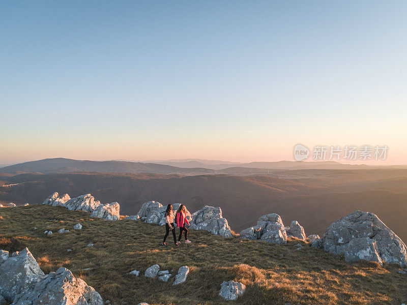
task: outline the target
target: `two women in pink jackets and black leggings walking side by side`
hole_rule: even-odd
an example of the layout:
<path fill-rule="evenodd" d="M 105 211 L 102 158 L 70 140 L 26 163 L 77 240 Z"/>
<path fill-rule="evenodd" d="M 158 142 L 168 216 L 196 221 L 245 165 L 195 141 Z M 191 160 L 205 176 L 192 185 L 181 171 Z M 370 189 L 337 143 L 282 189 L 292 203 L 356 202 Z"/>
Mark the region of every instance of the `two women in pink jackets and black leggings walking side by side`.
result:
<path fill-rule="evenodd" d="M 165 211 L 165 235 L 164 235 L 164 240 L 162 242 L 162 245 L 165 247 L 166 242 L 165 240 L 167 239 L 167 236 L 169 234 L 169 230 L 172 231 L 172 237 L 174 237 L 174 243 L 176 246 L 181 245 L 181 237 L 182 233 L 184 232 L 185 235 L 185 243 L 190 243 L 191 241 L 188 239 L 188 229 L 187 225 L 189 226 L 189 221 L 187 219 L 186 215 L 186 208 L 184 204 L 180 205 L 180 208 L 177 210 L 176 213 L 176 221 L 177 221 L 177 227 L 180 228 L 180 235 L 178 236 L 178 241 L 175 235 L 175 227 L 174 227 L 174 214 L 172 212 L 172 204 L 167 205 L 167 209 Z"/>

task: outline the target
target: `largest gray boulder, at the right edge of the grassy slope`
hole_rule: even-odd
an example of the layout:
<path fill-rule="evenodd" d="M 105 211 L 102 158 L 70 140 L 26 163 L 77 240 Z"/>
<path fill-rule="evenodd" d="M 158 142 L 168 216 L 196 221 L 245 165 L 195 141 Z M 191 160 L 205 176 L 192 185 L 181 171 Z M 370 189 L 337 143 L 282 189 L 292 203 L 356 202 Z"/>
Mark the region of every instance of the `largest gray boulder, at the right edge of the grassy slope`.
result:
<path fill-rule="evenodd" d="M 343 253 L 350 261 L 381 263 L 381 259 L 388 264 L 407 266 L 404 242 L 370 212 L 356 211 L 332 223 L 324 234 L 323 247 L 331 253 Z"/>

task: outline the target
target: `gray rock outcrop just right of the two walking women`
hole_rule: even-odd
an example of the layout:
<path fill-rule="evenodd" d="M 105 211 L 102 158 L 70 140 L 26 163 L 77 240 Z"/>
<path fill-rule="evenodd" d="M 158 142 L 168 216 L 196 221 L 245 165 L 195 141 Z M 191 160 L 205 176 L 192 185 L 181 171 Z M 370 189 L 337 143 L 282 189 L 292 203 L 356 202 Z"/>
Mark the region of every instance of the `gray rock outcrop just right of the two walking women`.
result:
<path fill-rule="evenodd" d="M 192 214 L 192 221 L 190 221 L 190 223 L 191 229 L 206 230 L 212 234 L 221 235 L 223 237 L 233 235 L 227 220 L 222 217 L 220 207 L 204 206 Z"/>

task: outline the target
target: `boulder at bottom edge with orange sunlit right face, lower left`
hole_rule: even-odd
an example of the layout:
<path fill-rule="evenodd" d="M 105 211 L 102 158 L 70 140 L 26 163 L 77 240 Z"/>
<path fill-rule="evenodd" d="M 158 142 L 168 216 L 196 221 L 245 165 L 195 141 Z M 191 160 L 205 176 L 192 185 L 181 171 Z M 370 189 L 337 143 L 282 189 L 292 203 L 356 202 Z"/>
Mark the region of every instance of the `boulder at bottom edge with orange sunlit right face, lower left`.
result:
<path fill-rule="evenodd" d="M 12 305 L 103 305 L 102 297 L 91 286 L 66 268 L 50 272 L 38 282 L 32 282 L 16 295 Z"/>

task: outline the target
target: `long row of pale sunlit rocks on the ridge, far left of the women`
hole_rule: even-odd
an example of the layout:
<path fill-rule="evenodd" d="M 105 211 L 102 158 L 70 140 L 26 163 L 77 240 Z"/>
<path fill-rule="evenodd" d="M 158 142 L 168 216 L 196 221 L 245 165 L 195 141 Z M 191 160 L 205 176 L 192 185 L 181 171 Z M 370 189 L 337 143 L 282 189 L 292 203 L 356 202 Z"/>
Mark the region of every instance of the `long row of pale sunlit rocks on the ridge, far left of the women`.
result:
<path fill-rule="evenodd" d="M 59 197 L 57 192 L 49 196 L 43 204 L 52 206 L 65 206 L 69 210 L 86 211 L 91 213 L 91 217 L 103 218 L 107 220 L 120 219 L 120 205 L 117 202 L 101 204 L 95 201 L 91 194 L 81 195 L 76 198 L 70 198 L 68 194 Z"/>

